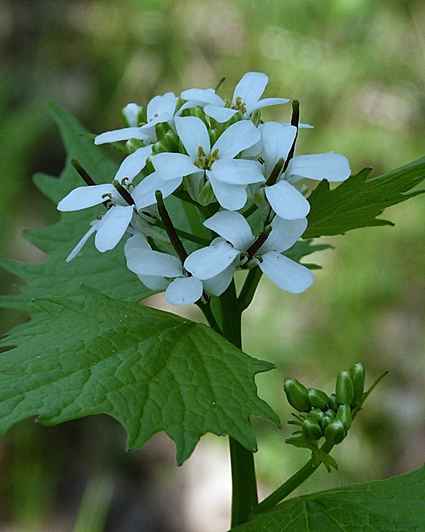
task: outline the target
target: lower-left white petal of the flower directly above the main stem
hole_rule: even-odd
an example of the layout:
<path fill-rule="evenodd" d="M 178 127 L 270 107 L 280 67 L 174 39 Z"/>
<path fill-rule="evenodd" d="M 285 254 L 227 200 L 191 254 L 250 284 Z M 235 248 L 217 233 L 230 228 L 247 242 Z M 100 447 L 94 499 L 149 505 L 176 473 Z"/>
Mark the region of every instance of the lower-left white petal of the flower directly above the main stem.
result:
<path fill-rule="evenodd" d="M 191 253 L 184 261 L 184 268 L 198 279 L 210 279 L 221 274 L 238 255 L 239 251 L 232 245 L 219 242 Z"/>

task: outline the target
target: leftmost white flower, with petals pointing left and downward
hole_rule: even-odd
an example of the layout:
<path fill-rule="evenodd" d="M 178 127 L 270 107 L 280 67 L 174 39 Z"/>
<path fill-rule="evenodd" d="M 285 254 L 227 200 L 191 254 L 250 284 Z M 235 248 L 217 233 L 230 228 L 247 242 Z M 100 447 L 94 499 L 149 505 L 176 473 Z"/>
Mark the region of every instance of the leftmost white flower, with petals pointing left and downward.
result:
<path fill-rule="evenodd" d="M 75 246 L 66 259 L 71 261 L 80 252 L 84 243 L 93 232 L 96 232 L 95 246 L 100 252 L 112 250 L 123 237 L 133 217 L 134 208 L 128 205 L 117 192 L 113 184 L 97 184 L 93 186 L 78 186 L 66 195 L 58 204 L 58 210 L 82 210 L 99 205 L 104 201 L 112 202 L 105 215 L 100 220 L 91 223 L 91 227 Z"/>

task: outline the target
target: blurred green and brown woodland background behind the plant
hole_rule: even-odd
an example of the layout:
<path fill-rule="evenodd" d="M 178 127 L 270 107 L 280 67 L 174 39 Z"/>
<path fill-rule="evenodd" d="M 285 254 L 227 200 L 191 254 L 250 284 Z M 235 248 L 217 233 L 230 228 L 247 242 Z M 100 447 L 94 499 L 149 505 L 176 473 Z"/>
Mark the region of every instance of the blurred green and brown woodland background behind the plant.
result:
<path fill-rule="evenodd" d="M 64 149 L 45 106 L 55 99 L 89 130 L 121 125 L 120 110 L 169 90 L 270 77 L 266 96 L 297 98 L 298 153 L 334 150 L 373 176 L 425 154 L 425 3 L 420 0 L 0 0 L 0 254 L 45 256 L 22 236 L 57 219 L 32 184 L 59 175 Z M 266 119 L 288 121 L 289 106 Z M 367 384 L 390 370 L 350 437 L 298 493 L 384 479 L 425 460 L 425 199 L 385 213 L 393 228 L 323 239 L 324 269 L 302 295 L 263 280 L 245 313 L 244 348 L 278 370 L 258 376 L 260 396 L 287 420 L 286 376 L 330 393 L 341 369 L 363 361 Z M 70 244 L 70 249 L 71 249 Z M 0 269 L 1 293 L 19 280 Z M 158 298 L 156 302 L 162 304 Z M 193 313 L 186 309 L 186 313 Z M 25 319 L 2 311 L 0 333 Z M 306 459 L 282 431 L 253 420 L 261 491 Z M 125 453 L 125 434 L 97 416 L 53 428 L 32 420 L 0 443 L 0 530 L 225 531 L 228 457 L 207 436 L 176 468 L 157 435 Z"/>

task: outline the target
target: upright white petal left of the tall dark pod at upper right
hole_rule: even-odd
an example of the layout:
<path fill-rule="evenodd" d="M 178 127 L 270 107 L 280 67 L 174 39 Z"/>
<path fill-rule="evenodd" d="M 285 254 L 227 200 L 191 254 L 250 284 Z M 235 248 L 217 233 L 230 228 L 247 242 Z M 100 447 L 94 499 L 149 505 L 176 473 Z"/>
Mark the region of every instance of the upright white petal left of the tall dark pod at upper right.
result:
<path fill-rule="evenodd" d="M 263 125 L 263 158 L 266 178 L 270 176 L 280 158 L 287 158 L 296 134 L 295 125 L 283 125 L 279 122 L 266 122 Z"/>

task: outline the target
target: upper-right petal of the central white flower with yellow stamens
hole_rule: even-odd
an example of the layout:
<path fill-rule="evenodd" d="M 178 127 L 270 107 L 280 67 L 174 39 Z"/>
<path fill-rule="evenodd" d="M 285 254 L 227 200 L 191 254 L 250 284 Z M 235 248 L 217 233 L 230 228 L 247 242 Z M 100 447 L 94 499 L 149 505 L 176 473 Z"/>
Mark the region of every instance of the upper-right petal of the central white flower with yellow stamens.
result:
<path fill-rule="evenodd" d="M 261 133 L 250 120 L 241 120 L 221 134 L 211 151 L 218 149 L 220 159 L 232 159 L 256 144 L 260 138 Z"/>

